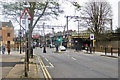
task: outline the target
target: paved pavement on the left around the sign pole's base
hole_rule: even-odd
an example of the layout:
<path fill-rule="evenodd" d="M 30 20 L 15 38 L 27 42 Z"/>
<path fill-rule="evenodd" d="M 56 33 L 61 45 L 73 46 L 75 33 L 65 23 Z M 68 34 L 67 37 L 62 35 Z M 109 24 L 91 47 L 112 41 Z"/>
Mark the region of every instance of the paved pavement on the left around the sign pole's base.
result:
<path fill-rule="evenodd" d="M 35 62 L 35 57 L 29 59 L 29 72 L 28 77 L 24 77 L 24 64 L 25 52 L 22 54 L 19 51 L 11 51 L 10 55 L 5 52 L 5 54 L 0 54 L 0 79 L 9 80 L 9 79 L 38 79 L 41 78 L 37 65 Z"/>

